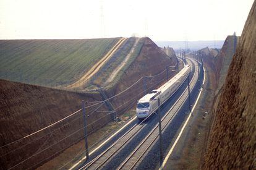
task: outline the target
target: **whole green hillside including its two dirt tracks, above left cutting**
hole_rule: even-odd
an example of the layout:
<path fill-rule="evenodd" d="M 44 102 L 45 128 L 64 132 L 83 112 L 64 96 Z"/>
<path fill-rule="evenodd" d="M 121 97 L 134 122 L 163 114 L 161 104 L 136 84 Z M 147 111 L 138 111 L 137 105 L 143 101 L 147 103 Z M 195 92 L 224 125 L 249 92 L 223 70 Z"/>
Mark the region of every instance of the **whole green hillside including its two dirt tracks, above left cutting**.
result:
<path fill-rule="evenodd" d="M 76 91 L 111 88 L 145 40 L 1 40 L 0 79 Z"/>

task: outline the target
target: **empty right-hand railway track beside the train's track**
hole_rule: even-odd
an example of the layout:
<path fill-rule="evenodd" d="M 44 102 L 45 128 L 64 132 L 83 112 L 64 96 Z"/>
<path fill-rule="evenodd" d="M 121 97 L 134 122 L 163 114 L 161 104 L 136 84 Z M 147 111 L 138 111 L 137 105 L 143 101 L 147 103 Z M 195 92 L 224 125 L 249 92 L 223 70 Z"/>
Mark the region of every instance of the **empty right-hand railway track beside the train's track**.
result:
<path fill-rule="evenodd" d="M 195 84 L 197 81 L 195 81 L 198 75 L 193 76 L 193 85 L 192 89 L 195 87 Z M 182 104 L 187 100 L 188 95 L 184 96 L 184 93 L 187 93 L 188 89 L 184 90 L 180 98 L 177 100 L 179 103 L 175 103 L 174 106 L 169 109 L 168 113 L 165 114 L 163 119 L 161 120 L 162 125 L 162 132 L 165 129 L 165 127 L 168 126 L 169 122 L 173 119 L 173 117 L 176 115 L 177 111 L 179 111 L 179 108 L 181 108 Z M 158 124 L 155 125 L 155 127 L 150 131 L 150 133 L 145 137 L 142 142 L 135 148 L 132 153 L 122 162 L 122 164 L 117 169 L 136 169 L 137 163 L 140 161 L 142 156 L 148 151 L 148 149 L 156 142 L 159 136 L 158 131 Z"/>

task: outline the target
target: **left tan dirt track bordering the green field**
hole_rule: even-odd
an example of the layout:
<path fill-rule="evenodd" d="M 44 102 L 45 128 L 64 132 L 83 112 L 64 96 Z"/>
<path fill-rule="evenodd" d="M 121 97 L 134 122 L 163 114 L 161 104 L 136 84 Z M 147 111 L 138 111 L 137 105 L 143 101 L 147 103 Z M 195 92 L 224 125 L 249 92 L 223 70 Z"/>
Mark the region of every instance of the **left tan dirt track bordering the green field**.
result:
<path fill-rule="evenodd" d="M 75 87 L 82 87 L 82 85 L 87 82 L 100 68 L 108 61 L 108 59 L 113 56 L 114 52 L 124 43 L 127 38 L 121 38 L 116 45 L 100 60 L 98 61 L 90 70 L 88 70 L 81 79 L 77 80 L 77 82 L 68 85 L 67 88 L 75 88 Z"/>

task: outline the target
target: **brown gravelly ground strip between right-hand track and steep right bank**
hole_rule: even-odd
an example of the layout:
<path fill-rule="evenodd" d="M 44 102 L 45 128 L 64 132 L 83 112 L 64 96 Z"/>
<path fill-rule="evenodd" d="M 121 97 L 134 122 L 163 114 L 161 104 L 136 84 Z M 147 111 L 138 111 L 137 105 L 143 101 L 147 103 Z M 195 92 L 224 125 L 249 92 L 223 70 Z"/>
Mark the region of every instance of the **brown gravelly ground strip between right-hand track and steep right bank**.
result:
<path fill-rule="evenodd" d="M 198 100 L 189 124 L 183 131 L 172 155 L 164 169 L 200 169 L 207 138 L 211 126 L 211 108 L 214 101 L 211 70 L 205 69 L 207 79 L 203 86 L 202 96 Z M 170 146 L 171 147 L 171 146 Z"/>

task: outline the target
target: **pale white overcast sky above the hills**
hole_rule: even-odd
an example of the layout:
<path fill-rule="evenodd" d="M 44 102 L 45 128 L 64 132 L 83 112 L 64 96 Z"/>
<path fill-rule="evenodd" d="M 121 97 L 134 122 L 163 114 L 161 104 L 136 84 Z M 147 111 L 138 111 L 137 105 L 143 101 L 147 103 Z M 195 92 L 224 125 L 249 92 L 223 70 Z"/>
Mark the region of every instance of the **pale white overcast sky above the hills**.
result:
<path fill-rule="evenodd" d="M 241 35 L 254 0 L 0 0 L 0 40 Z"/>

